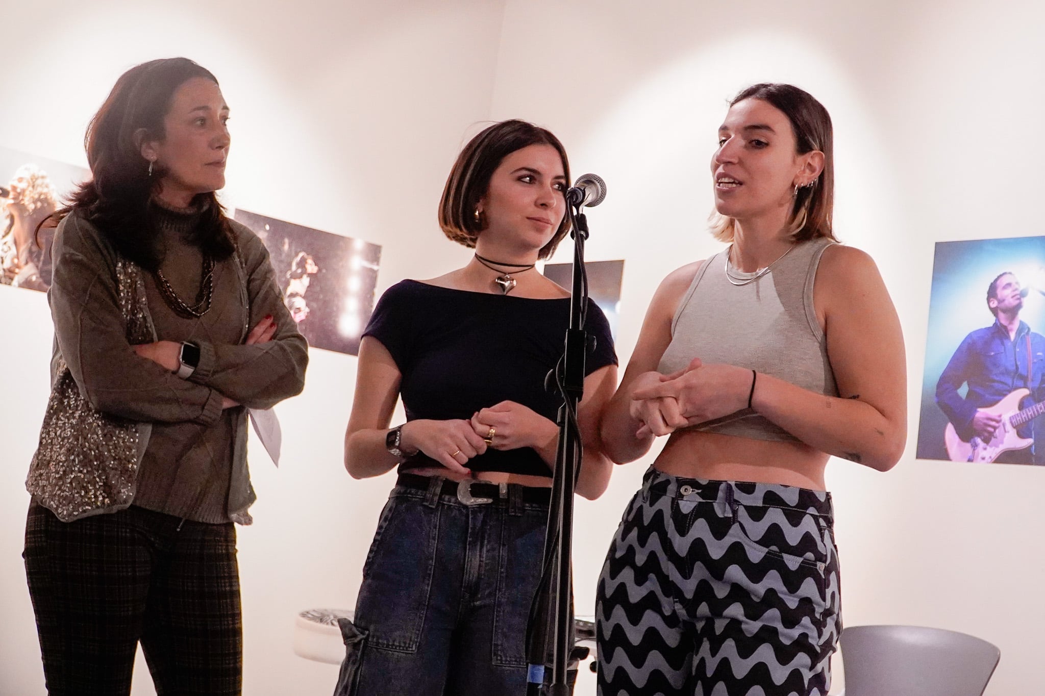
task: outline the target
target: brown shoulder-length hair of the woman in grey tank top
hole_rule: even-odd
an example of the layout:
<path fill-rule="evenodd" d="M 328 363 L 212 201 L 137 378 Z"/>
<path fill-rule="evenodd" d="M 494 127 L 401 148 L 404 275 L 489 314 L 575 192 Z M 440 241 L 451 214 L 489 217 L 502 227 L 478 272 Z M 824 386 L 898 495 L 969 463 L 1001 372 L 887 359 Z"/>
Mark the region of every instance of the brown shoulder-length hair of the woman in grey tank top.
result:
<path fill-rule="evenodd" d="M 744 99 L 761 99 L 787 116 L 794 133 L 795 151 L 806 154 L 823 152 L 823 171 L 812 186 L 798 189 L 791 209 L 791 238 L 804 242 L 815 237 L 835 239 L 831 217 L 835 206 L 835 146 L 831 115 L 813 95 L 793 85 L 761 82 L 734 97 L 733 106 Z M 733 218 L 720 216 L 712 234 L 723 242 L 733 241 Z M 837 239 L 835 239 L 837 241 Z"/>

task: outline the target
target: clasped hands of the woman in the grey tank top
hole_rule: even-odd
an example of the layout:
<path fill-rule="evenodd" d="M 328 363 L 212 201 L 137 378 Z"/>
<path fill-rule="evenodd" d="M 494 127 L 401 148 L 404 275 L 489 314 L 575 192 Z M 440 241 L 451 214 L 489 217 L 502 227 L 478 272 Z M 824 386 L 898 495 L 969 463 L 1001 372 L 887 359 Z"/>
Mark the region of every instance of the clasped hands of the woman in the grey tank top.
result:
<path fill-rule="evenodd" d="M 628 408 L 631 417 L 640 423 L 635 437 L 669 435 L 679 428 L 747 408 L 751 378 L 751 370 L 745 367 L 704 364 L 700 358 L 671 375 L 640 375 L 632 385 Z"/>

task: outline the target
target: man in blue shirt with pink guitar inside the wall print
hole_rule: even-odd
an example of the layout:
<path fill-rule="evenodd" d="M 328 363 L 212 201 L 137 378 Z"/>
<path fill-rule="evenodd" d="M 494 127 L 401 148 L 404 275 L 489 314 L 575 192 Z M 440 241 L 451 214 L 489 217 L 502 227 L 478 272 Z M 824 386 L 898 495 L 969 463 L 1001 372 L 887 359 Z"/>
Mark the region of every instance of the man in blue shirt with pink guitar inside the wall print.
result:
<path fill-rule="evenodd" d="M 1045 401 L 1045 336 L 1020 320 L 1025 294 L 1012 272 L 994 279 L 986 290 L 994 325 L 966 336 L 939 376 L 936 404 L 953 427 L 945 437 L 952 460 L 1045 463 L 1045 453 L 1036 454 L 1041 428 L 1034 419 L 1045 413 L 1039 406 Z"/>

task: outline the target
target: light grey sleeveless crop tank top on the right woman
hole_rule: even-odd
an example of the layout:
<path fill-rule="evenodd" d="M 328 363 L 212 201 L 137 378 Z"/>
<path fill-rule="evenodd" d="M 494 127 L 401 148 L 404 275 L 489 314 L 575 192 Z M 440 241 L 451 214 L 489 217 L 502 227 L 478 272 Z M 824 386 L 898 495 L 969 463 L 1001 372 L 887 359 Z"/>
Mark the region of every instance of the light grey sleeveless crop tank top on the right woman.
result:
<path fill-rule="evenodd" d="M 726 248 L 697 269 L 675 310 L 671 343 L 657 371 L 682 369 L 693 358 L 772 375 L 791 384 L 838 395 L 823 332 L 813 310 L 813 281 L 820 256 L 835 242 L 823 237 L 800 242 L 770 270 L 747 285 L 726 278 Z M 734 278 L 752 278 L 733 268 Z M 797 437 L 751 409 L 691 427 L 761 440 L 797 442 Z"/>

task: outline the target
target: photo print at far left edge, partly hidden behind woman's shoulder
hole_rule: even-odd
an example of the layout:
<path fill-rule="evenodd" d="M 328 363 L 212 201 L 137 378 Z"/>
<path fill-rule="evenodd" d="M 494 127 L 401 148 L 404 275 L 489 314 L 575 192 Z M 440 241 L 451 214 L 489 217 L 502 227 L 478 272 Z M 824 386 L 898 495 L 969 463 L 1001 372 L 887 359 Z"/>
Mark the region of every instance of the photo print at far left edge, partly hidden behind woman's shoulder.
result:
<path fill-rule="evenodd" d="M 37 225 L 91 177 L 83 167 L 0 147 L 0 285 L 45 292 L 54 227 Z"/>

